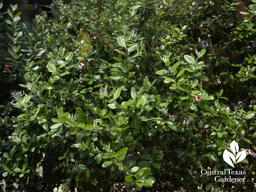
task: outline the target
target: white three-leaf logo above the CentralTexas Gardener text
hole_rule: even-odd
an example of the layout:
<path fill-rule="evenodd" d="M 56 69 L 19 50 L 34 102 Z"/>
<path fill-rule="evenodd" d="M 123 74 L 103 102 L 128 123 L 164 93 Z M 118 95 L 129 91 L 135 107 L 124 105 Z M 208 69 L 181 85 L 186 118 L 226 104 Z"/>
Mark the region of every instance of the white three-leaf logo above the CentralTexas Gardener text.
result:
<path fill-rule="evenodd" d="M 230 144 L 230 148 L 231 148 L 231 151 L 233 152 L 230 153 L 227 149 L 225 149 L 224 153 L 223 153 L 223 159 L 224 161 L 229 164 L 230 166 L 234 167 L 234 164 L 240 162 L 240 161 L 243 161 L 246 157 L 246 151 L 243 150 L 243 151 L 240 151 L 238 153 L 238 149 L 239 149 L 239 146 L 238 144 L 236 143 L 235 140 L 233 140 Z M 237 153 L 237 154 L 236 154 Z M 233 162 L 232 162 L 232 161 Z M 235 167 L 234 167 L 235 168 Z"/>

